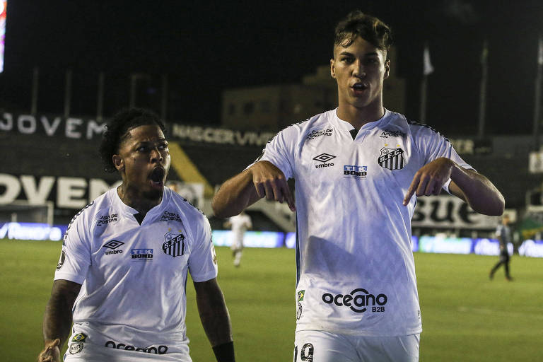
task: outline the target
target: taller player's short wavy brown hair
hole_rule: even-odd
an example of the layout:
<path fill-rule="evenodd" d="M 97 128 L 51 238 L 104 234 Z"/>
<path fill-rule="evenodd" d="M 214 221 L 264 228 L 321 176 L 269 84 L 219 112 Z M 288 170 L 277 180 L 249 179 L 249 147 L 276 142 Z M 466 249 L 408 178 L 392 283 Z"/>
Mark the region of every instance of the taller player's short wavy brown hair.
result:
<path fill-rule="evenodd" d="M 388 25 L 374 16 L 356 10 L 337 24 L 334 46 L 349 47 L 358 36 L 382 50 L 387 50 L 393 42 L 392 30 Z"/>

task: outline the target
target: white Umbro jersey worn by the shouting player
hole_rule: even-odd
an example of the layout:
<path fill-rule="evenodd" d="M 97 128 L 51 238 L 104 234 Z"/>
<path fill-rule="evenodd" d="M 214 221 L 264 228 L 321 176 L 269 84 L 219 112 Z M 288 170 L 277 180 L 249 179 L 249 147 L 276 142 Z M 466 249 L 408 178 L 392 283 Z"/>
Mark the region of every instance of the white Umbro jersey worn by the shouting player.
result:
<path fill-rule="evenodd" d="M 217 275 L 209 221 L 168 188 L 141 225 L 137 213 L 110 189 L 72 219 L 54 275 L 82 284 L 66 355 L 93 344 L 188 356 L 187 271 L 197 282 Z"/>

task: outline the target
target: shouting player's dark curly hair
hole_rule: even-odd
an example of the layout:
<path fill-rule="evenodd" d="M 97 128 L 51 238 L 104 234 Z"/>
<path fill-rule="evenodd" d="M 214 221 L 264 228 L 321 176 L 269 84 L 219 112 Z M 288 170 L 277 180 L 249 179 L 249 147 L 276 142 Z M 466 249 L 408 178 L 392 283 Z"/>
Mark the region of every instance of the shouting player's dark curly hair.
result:
<path fill-rule="evenodd" d="M 166 134 L 166 127 L 160 117 L 144 108 L 121 110 L 106 124 L 99 149 L 100 158 L 102 158 L 106 172 L 113 173 L 117 170 L 113 164 L 112 156 L 119 152 L 119 146 L 130 129 L 145 124 L 157 124 L 162 132 Z"/>

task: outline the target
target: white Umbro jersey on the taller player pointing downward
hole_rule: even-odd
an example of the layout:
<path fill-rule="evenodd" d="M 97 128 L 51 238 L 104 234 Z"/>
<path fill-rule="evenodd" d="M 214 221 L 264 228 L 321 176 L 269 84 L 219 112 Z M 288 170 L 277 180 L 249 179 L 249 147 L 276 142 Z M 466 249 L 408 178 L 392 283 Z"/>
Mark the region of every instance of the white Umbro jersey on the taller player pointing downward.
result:
<path fill-rule="evenodd" d="M 293 124 L 260 160 L 296 180 L 297 331 L 397 336 L 421 332 L 411 252 L 419 168 L 439 157 L 467 165 L 430 127 L 385 110 L 354 127 L 331 110 Z"/>

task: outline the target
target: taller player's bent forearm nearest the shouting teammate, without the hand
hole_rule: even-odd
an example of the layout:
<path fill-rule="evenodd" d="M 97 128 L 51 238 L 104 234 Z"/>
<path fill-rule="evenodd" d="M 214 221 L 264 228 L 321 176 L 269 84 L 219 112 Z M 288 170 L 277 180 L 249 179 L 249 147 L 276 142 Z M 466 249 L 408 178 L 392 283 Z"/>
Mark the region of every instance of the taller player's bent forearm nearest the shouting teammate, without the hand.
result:
<path fill-rule="evenodd" d="M 211 207 L 218 218 L 228 218 L 240 214 L 257 200 L 252 174 L 250 170 L 245 170 L 221 185 L 211 202 Z"/>

